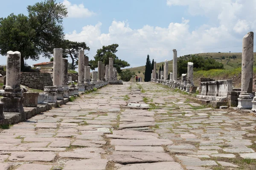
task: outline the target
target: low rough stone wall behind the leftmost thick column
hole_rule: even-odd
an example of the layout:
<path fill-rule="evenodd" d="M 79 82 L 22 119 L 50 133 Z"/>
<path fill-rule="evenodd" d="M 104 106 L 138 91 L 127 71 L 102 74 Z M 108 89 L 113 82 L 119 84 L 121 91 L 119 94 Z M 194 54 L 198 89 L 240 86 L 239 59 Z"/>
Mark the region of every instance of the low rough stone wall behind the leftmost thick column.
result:
<path fill-rule="evenodd" d="M 52 77 L 49 73 L 21 73 L 20 84 L 29 88 L 44 90 L 44 86 L 52 86 Z"/>

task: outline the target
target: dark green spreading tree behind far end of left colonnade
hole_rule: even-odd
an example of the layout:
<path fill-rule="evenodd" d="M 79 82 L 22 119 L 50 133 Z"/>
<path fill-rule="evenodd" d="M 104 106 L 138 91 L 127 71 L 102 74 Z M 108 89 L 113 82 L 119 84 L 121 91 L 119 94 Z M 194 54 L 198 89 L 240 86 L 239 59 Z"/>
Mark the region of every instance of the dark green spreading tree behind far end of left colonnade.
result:
<path fill-rule="evenodd" d="M 118 44 L 112 44 L 108 46 L 102 46 L 102 48 L 97 50 L 97 54 L 94 56 L 94 60 L 89 61 L 89 65 L 91 66 L 92 70 L 95 70 L 95 68 L 98 67 L 98 61 L 102 61 L 103 64 L 108 65 L 109 64 L 109 58 L 113 58 L 113 67 L 116 68 L 117 72 L 120 74 L 122 72 L 121 68 L 125 68 L 130 66 L 130 64 L 125 61 L 121 60 L 116 56 L 116 48 L 118 47 Z"/>

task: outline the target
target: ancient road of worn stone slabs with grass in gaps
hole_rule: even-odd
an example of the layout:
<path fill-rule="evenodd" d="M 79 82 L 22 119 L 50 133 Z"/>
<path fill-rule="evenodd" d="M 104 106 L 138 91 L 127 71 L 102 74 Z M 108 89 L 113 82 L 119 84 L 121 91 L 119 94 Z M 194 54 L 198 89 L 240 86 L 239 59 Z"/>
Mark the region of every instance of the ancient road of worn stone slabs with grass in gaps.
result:
<path fill-rule="evenodd" d="M 255 170 L 255 127 L 159 84 L 108 85 L 2 130 L 0 170 Z"/>

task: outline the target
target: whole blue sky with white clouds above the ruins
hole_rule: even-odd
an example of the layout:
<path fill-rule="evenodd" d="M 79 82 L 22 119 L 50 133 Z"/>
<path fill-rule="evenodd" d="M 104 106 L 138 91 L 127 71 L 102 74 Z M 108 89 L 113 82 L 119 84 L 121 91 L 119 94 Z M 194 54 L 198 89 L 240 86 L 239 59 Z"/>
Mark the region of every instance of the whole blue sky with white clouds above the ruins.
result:
<path fill-rule="evenodd" d="M 27 14 L 39 0 L 1 2 L 0 17 Z M 102 45 L 118 43 L 116 53 L 131 67 L 145 65 L 147 54 L 162 62 L 201 52 L 241 52 L 242 38 L 255 31 L 256 0 L 57 0 L 64 3 L 66 39 L 86 42 L 90 59 Z M 250 10 L 248 10 L 250 6 Z M 246 11 L 246 12 L 245 12 Z M 58 47 L 56 47 L 58 48 Z M 210 48 L 210 49 L 209 49 Z M 214 48 L 214 49 L 212 49 Z M 88 51 L 85 51 L 88 53 Z M 27 60 L 29 65 L 49 61 Z M 1 59 L 0 64 L 6 64 Z"/>

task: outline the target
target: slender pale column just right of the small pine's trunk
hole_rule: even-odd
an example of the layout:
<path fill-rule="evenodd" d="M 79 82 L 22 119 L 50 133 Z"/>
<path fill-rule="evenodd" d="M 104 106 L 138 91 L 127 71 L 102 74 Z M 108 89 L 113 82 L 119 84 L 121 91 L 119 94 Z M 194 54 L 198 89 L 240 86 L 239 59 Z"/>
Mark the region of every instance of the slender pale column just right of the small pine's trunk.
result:
<path fill-rule="evenodd" d="M 85 91 L 84 85 L 84 50 L 78 51 L 78 91 Z"/>

